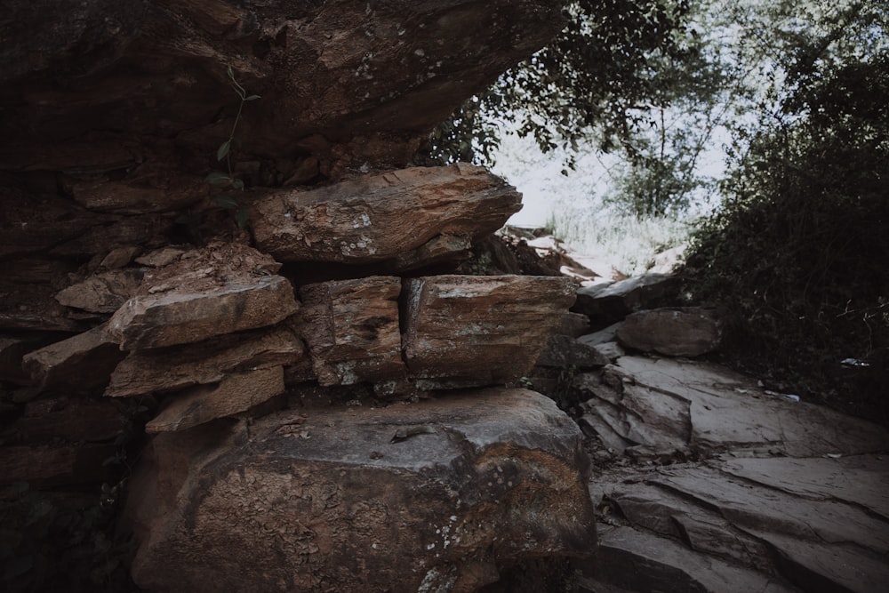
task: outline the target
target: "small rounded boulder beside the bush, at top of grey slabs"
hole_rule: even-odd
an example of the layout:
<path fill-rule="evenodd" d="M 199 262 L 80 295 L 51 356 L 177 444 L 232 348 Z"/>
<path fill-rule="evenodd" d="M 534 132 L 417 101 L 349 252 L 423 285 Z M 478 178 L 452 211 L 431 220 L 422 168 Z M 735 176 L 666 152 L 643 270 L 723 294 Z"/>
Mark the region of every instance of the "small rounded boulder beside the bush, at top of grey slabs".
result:
<path fill-rule="evenodd" d="M 649 309 L 629 315 L 617 338 L 630 349 L 668 357 L 698 357 L 718 348 L 722 325 L 713 309 Z"/>

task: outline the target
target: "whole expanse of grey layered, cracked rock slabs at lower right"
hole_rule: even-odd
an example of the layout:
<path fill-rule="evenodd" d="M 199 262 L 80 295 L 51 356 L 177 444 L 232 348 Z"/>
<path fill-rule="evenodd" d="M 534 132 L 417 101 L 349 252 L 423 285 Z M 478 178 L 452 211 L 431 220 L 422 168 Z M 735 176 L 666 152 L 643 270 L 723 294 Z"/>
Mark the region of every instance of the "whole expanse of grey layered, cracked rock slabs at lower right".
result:
<path fill-rule="evenodd" d="M 885 429 L 716 365 L 622 357 L 587 388 L 605 467 L 581 591 L 885 589 Z"/>

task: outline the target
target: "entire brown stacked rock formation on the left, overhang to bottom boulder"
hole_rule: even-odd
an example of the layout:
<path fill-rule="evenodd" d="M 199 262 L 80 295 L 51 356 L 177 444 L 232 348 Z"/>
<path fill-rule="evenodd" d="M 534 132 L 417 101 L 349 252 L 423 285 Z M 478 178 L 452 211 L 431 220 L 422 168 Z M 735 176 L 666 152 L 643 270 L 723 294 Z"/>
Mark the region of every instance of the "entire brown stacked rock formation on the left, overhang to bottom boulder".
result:
<path fill-rule="evenodd" d="M 147 421 L 148 589 L 471 591 L 589 556 L 573 422 L 445 392 L 530 368 L 574 286 L 432 276 L 521 196 L 410 166 L 562 4 L 4 5 L 0 483 L 119 492 Z"/>

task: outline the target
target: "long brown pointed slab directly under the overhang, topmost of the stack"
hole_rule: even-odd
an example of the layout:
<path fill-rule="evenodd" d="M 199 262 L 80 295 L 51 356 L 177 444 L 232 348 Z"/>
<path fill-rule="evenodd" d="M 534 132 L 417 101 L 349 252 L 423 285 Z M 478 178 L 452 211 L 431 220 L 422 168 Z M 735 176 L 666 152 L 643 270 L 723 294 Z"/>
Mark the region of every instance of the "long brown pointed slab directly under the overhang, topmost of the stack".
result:
<path fill-rule="evenodd" d="M 270 192 L 253 204 L 251 222 L 260 249 L 281 261 L 410 260 L 404 253 L 430 242 L 440 247 L 449 236 L 493 233 L 521 208 L 521 199 L 505 181 L 470 164 L 416 167 Z M 468 246 L 458 245 L 461 252 Z M 438 247 L 428 249 L 441 257 Z"/>

